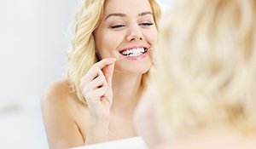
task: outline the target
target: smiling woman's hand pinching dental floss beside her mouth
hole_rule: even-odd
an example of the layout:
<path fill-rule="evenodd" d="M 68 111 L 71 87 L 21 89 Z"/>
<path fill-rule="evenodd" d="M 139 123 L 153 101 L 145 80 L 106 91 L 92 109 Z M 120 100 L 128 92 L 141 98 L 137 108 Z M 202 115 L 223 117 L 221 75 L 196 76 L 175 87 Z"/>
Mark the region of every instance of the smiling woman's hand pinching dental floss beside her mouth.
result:
<path fill-rule="evenodd" d="M 113 101 L 113 58 L 106 58 L 90 67 L 80 80 L 80 89 L 90 110 L 92 122 L 109 120 Z"/>

